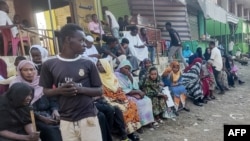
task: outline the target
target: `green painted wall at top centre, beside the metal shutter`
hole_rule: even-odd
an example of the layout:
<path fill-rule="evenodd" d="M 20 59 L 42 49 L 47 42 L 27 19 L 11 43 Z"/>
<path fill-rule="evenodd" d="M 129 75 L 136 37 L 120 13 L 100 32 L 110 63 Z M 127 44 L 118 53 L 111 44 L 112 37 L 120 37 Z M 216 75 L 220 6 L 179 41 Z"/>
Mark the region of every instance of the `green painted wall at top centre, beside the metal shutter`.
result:
<path fill-rule="evenodd" d="M 130 15 L 128 0 L 101 0 L 102 6 L 107 6 L 116 19 Z"/>

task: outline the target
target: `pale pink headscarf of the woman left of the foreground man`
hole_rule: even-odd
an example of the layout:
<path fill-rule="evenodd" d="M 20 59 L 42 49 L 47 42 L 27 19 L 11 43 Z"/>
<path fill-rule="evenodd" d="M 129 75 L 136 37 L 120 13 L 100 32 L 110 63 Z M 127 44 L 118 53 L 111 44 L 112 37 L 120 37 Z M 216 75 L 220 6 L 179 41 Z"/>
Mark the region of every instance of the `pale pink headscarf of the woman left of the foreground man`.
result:
<path fill-rule="evenodd" d="M 43 87 L 39 86 L 39 79 L 40 79 L 40 76 L 37 76 L 37 71 L 35 73 L 35 76 L 34 76 L 34 79 L 32 82 L 28 82 L 26 81 L 22 75 L 21 75 L 21 69 L 27 65 L 27 64 L 30 64 L 34 67 L 34 70 L 36 71 L 36 67 L 34 65 L 33 62 L 31 61 L 28 61 L 28 60 L 23 60 L 21 61 L 18 66 L 17 66 L 17 77 L 16 79 L 14 79 L 11 83 L 10 83 L 10 86 L 11 87 L 13 84 L 17 83 L 17 82 L 22 82 L 22 83 L 26 83 L 28 84 L 29 86 L 33 87 L 34 90 L 35 90 L 35 93 L 34 93 L 34 98 L 33 100 L 31 101 L 31 104 L 35 103 L 38 99 L 40 99 L 42 96 L 43 96 Z"/>

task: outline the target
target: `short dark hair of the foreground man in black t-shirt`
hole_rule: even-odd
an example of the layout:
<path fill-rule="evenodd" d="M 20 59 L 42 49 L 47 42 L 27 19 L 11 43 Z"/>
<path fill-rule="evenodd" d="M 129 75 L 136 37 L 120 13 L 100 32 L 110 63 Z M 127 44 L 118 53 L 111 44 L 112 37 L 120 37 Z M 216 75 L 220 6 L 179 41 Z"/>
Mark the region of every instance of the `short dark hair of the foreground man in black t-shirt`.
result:
<path fill-rule="evenodd" d="M 76 33 L 76 31 L 78 30 L 83 31 L 83 29 L 77 24 L 69 23 L 64 25 L 60 31 L 60 37 L 62 39 L 62 42 L 65 41 L 66 37 L 73 37 L 73 34 Z"/>

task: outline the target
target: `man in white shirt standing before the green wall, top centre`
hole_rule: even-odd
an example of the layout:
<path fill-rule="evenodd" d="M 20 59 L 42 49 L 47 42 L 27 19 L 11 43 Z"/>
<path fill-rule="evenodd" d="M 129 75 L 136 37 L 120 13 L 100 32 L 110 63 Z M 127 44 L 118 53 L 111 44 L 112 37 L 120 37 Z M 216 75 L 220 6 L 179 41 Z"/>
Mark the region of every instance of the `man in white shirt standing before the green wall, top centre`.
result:
<path fill-rule="evenodd" d="M 113 15 L 113 13 L 111 13 L 108 10 L 108 7 L 106 7 L 106 6 L 102 7 L 102 11 L 105 14 L 105 17 L 106 17 L 107 23 L 109 25 L 109 28 L 111 30 L 112 36 L 119 39 L 119 28 L 120 27 L 119 27 L 118 22 L 116 21 L 115 16 Z"/>

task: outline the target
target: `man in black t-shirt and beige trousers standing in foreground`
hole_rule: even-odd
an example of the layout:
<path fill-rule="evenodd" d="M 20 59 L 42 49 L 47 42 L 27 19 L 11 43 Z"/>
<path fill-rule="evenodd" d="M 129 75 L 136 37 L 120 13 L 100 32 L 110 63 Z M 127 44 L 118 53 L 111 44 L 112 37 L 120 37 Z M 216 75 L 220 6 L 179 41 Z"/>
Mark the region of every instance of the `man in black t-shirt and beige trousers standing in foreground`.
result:
<path fill-rule="evenodd" d="M 58 101 L 64 141 L 102 141 L 93 102 L 102 95 L 102 82 L 95 64 L 81 56 L 85 33 L 76 24 L 65 25 L 60 33 L 61 54 L 44 62 L 40 85 Z"/>

